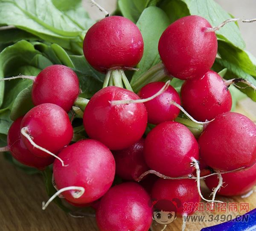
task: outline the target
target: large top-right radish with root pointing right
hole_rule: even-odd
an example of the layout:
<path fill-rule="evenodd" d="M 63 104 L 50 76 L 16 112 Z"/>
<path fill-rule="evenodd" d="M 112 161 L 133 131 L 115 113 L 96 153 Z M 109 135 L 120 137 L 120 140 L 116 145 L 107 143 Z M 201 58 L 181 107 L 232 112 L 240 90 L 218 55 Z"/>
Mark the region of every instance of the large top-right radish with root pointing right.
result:
<path fill-rule="evenodd" d="M 158 43 L 161 60 L 169 74 L 181 80 L 203 77 L 217 54 L 215 32 L 203 17 L 189 15 L 176 20 L 163 32 Z"/>

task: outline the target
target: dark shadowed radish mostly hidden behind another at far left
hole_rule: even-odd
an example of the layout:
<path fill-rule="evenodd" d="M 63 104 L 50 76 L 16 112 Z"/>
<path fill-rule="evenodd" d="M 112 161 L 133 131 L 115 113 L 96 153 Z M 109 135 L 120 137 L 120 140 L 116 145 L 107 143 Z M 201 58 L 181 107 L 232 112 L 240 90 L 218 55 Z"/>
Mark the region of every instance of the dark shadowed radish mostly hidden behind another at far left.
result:
<path fill-rule="evenodd" d="M 38 168 L 43 171 L 55 160 L 54 157 L 41 158 L 32 154 L 24 145 L 20 134 L 20 123 L 23 117 L 15 120 L 9 128 L 7 135 L 7 144 L 12 157 L 23 165 Z"/>

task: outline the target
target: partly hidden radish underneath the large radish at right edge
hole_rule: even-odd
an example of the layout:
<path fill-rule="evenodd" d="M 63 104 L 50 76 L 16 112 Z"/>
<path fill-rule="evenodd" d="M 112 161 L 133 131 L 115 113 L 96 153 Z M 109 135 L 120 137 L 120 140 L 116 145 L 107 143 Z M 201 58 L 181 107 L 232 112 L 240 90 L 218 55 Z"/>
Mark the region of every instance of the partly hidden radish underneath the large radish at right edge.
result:
<path fill-rule="evenodd" d="M 217 194 L 223 196 L 244 194 L 256 184 L 256 165 L 244 171 L 225 173 L 221 176 L 223 184 Z M 205 178 L 205 183 L 211 190 L 217 187 L 218 181 L 216 175 Z"/>

